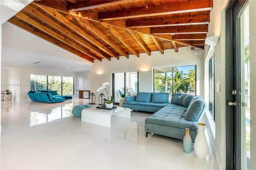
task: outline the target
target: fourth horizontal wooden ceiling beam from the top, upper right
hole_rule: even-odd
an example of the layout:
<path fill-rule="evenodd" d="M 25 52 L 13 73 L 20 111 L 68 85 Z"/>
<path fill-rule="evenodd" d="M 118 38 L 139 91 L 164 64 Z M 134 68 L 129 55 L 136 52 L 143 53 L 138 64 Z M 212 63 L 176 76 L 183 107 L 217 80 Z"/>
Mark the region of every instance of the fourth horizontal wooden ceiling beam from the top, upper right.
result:
<path fill-rule="evenodd" d="M 170 26 L 150 28 L 151 34 L 206 34 L 208 25 Z"/>

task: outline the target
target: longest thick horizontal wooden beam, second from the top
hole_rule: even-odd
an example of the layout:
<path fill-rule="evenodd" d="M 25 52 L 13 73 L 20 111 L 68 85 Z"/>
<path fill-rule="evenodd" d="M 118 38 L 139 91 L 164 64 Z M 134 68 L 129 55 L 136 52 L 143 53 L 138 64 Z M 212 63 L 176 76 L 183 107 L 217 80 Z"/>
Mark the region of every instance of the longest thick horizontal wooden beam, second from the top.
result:
<path fill-rule="evenodd" d="M 196 12 L 212 10 L 213 0 L 192 0 L 176 2 L 158 6 L 148 6 L 144 8 L 134 8 L 130 10 L 104 12 L 98 14 L 100 20 L 117 20 L 138 17 L 148 17 L 156 15 L 179 14 L 184 12 Z"/>

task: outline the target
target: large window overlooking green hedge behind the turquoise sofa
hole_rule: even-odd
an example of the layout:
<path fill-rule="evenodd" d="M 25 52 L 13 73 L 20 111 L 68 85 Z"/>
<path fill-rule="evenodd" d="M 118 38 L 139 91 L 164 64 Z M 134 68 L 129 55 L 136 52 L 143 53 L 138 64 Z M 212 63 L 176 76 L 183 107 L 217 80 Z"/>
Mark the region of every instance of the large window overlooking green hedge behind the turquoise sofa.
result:
<path fill-rule="evenodd" d="M 59 95 L 74 95 L 74 77 L 30 75 L 30 90 L 56 90 Z"/>

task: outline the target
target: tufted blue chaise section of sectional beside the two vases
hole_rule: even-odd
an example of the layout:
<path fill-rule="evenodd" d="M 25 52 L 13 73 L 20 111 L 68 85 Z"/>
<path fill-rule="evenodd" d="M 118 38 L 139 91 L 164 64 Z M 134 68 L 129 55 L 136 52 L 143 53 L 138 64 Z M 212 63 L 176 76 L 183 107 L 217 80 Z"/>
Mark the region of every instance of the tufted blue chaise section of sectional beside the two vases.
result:
<path fill-rule="evenodd" d="M 204 115 L 206 103 L 201 96 L 173 93 L 171 103 L 145 119 L 148 133 L 183 139 L 189 128 L 192 142 L 198 132 L 197 123 Z"/>

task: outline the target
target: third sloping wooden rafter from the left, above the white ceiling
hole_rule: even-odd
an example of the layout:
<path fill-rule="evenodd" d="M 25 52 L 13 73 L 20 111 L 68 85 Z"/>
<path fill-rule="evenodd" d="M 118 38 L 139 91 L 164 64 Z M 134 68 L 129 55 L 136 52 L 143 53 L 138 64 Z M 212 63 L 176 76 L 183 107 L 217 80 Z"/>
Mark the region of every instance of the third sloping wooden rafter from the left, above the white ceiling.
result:
<path fill-rule="evenodd" d="M 86 46 L 87 48 L 92 48 L 92 50 L 96 49 L 94 48 L 92 45 L 90 45 L 89 43 L 85 42 L 84 40 L 82 40 L 81 38 L 79 38 L 78 36 L 76 36 L 75 34 L 72 34 L 72 32 L 66 30 L 65 28 L 63 28 L 62 26 L 60 26 L 60 24 L 57 24 L 56 22 L 54 22 L 53 20 L 51 20 L 50 18 L 48 18 L 47 16 L 45 16 L 44 14 L 42 14 L 41 12 L 39 12 L 38 10 L 36 10 L 35 8 L 33 8 L 32 6 L 27 6 L 25 8 L 26 11 L 31 12 L 34 16 L 36 16 L 37 18 L 39 18 L 40 20 L 44 21 L 45 23 L 49 24 L 50 26 L 52 26 L 53 28 L 55 28 L 56 30 L 62 32 L 63 34 L 65 34 L 66 36 L 68 36 L 69 38 L 79 42 L 80 44 L 82 44 L 83 46 Z M 86 49 L 84 49 L 86 50 Z M 101 61 L 101 57 L 98 57 L 96 55 L 94 55 L 93 53 L 91 53 L 90 51 L 86 50 L 88 55 L 90 55 L 91 57 L 93 57 L 94 59 L 97 59 L 98 61 Z M 96 49 L 96 51 L 94 51 L 96 53 L 98 53 L 100 56 L 110 59 L 110 56 L 102 53 L 102 51 Z"/>

